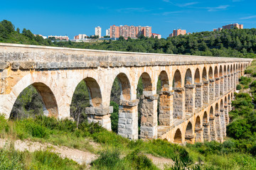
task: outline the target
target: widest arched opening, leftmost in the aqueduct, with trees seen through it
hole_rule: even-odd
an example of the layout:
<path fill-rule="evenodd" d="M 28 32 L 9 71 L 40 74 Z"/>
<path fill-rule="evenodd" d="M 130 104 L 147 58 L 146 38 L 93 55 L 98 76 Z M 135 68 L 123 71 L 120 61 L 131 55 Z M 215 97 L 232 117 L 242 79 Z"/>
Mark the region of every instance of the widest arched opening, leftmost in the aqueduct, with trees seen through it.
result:
<path fill-rule="evenodd" d="M 33 83 L 21 91 L 9 118 L 35 118 L 36 115 L 58 117 L 58 106 L 53 91 L 40 82 Z"/>

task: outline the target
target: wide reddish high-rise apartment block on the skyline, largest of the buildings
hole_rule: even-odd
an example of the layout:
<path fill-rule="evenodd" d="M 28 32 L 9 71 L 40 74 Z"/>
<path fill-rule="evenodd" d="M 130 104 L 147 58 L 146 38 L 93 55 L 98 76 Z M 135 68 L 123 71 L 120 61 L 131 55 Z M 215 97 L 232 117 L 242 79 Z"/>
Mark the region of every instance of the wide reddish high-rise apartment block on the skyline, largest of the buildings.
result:
<path fill-rule="evenodd" d="M 146 26 L 110 26 L 110 38 L 119 38 L 120 36 L 127 38 L 138 38 L 139 35 L 151 37 L 151 27 Z"/>

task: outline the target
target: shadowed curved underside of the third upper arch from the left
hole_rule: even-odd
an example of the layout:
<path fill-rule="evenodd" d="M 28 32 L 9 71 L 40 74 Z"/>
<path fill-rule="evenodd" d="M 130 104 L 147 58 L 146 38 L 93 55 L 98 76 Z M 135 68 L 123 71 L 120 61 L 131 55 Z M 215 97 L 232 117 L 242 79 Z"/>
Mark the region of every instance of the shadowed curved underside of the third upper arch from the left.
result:
<path fill-rule="evenodd" d="M 119 87 L 121 89 L 121 100 L 129 101 L 131 100 L 131 84 L 126 74 L 119 73 L 117 75 L 119 81 Z"/>

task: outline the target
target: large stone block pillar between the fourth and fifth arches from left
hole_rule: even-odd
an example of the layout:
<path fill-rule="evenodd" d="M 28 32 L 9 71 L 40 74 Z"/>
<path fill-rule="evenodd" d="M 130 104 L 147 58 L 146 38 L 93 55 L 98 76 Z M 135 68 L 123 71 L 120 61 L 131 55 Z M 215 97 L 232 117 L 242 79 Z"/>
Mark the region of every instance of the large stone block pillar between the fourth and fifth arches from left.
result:
<path fill-rule="evenodd" d="M 155 139 L 157 137 L 157 99 L 158 94 L 142 95 L 142 122 L 140 127 L 140 137 Z"/>

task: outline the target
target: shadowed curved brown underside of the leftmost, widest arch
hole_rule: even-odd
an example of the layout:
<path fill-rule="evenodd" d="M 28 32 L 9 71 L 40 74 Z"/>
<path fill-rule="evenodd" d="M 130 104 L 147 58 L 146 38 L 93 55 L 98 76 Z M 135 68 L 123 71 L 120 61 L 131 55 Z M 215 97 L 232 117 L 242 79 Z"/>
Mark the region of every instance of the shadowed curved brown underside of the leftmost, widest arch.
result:
<path fill-rule="evenodd" d="M 47 116 L 58 118 L 58 104 L 57 104 L 56 98 L 53 94 L 53 91 L 51 91 L 50 87 L 42 82 L 34 82 L 30 85 L 33 86 L 36 89 L 36 91 L 38 92 L 38 94 L 41 96 L 43 104 L 47 110 L 46 111 Z M 26 86 L 24 89 L 26 89 L 27 87 L 28 86 Z M 16 92 L 18 92 L 18 96 L 21 94 L 21 92 L 24 89 L 22 89 L 21 91 L 16 91 Z M 18 96 L 17 96 L 17 98 L 18 98 Z M 16 99 L 15 99 L 15 101 L 16 101 Z M 14 103 L 13 103 L 12 107 L 14 107 Z M 10 117 L 10 115 L 8 115 L 8 118 L 9 117 Z"/>

